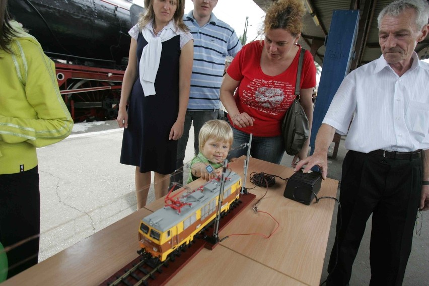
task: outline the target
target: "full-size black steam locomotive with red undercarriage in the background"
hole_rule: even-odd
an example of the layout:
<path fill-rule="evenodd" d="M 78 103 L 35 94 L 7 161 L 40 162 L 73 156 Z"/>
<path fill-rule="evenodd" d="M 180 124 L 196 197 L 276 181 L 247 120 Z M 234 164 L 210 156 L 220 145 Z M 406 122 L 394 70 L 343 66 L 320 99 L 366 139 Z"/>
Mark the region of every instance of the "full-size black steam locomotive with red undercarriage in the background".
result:
<path fill-rule="evenodd" d="M 144 8 L 132 0 L 14 0 L 8 8 L 55 62 L 75 122 L 116 118 L 128 30 Z"/>

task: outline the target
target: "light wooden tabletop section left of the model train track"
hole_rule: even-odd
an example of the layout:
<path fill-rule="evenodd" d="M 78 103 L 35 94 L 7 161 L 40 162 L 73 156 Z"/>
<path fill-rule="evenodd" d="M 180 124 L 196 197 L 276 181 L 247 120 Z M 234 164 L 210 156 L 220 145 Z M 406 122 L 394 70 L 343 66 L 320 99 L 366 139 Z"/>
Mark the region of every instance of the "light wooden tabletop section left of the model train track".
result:
<path fill-rule="evenodd" d="M 99 285 L 135 259 L 142 208 L 3 282 L 9 285 Z"/>

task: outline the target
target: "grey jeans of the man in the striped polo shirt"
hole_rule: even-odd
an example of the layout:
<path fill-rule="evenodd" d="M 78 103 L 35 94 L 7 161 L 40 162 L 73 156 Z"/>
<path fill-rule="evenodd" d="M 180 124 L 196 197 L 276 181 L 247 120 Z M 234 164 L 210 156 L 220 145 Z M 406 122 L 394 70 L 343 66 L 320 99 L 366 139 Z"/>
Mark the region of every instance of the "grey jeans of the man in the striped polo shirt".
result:
<path fill-rule="evenodd" d="M 183 183 L 183 161 L 185 160 L 185 151 L 186 145 L 188 144 L 189 139 L 189 130 L 191 129 L 191 124 L 194 125 L 194 150 L 195 155 L 199 152 L 199 142 L 198 134 L 202 125 L 205 122 L 212 119 L 218 119 L 219 109 L 218 110 L 201 110 L 201 111 L 186 111 L 185 123 L 183 125 L 183 135 L 178 140 L 177 145 L 177 161 L 176 169 L 180 169 L 178 172 L 175 172 L 172 180 L 174 182 Z"/>

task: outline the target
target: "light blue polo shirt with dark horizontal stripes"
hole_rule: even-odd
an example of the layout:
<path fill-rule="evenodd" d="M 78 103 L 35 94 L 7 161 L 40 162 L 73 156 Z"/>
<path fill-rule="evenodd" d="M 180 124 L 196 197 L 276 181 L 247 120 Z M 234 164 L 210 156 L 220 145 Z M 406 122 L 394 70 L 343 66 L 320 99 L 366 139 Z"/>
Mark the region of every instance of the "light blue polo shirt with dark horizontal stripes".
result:
<path fill-rule="evenodd" d="M 211 13 L 210 21 L 200 27 L 193 10 L 183 17 L 194 38 L 194 63 L 187 110 L 219 109 L 219 93 L 224 75 L 225 57 L 241 49 L 234 29 Z"/>

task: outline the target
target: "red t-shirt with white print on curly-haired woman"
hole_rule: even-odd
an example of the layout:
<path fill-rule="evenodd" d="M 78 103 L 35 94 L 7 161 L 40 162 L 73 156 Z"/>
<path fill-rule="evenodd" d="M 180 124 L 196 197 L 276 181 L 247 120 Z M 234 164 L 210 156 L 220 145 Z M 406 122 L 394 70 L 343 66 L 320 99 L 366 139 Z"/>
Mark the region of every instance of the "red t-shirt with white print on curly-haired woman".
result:
<path fill-rule="evenodd" d="M 253 133 L 254 136 L 272 137 L 281 134 L 281 120 L 294 101 L 299 53 L 283 73 L 271 77 L 265 75 L 261 69 L 263 49 L 264 41 L 245 45 L 228 67 L 227 73 L 233 80 L 240 82 L 234 95 L 238 110 L 255 118 L 253 126 L 235 128 L 248 134 Z M 306 51 L 301 89 L 315 86 L 316 66 L 313 56 Z M 229 119 L 232 124 L 231 117 Z"/>

